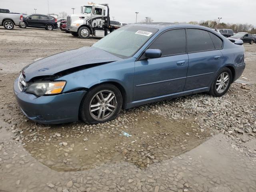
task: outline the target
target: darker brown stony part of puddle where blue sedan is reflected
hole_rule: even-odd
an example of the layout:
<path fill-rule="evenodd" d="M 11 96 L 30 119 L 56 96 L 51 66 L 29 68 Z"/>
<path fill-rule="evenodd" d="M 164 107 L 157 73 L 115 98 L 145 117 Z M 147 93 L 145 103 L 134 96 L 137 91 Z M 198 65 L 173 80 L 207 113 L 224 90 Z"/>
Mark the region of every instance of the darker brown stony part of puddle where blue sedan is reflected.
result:
<path fill-rule="evenodd" d="M 23 146 L 39 162 L 58 172 L 122 161 L 146 168 L 189 151 L 210 136 L 195 127 L 188 121 L 177 123 L 150 115 L 118 128 L 104 124 L 97 130 L 81 124 L 78 129 L 52 126 L 24 132 Z M 122 131 L 132 136 L 120 136 Z"/>

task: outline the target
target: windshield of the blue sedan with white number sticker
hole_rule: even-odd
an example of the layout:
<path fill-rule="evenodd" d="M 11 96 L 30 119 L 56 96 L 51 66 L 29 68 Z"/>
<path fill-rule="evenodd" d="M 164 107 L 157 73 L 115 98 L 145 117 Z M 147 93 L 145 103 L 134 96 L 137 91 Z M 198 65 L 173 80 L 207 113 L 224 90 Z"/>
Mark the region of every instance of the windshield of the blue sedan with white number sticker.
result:
<path fill-rule="evenodd" d="M 156 28 L 124 26 L 102 38 L 93 46 L 121 58 L 129 58 L 157 31 Z"/>

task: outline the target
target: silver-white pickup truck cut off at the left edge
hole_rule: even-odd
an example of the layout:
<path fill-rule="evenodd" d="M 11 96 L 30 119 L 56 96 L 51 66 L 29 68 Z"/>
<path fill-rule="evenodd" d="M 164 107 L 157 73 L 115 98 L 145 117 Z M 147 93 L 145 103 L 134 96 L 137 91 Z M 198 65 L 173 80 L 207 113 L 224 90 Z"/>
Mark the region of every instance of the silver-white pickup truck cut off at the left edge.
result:
<path fill-rule="evenodd" d="M 5 29 L 12 30 L 15 25 L 24 25 L 22 14 L 0 12 L 0 26 L 4 26 Z"/>

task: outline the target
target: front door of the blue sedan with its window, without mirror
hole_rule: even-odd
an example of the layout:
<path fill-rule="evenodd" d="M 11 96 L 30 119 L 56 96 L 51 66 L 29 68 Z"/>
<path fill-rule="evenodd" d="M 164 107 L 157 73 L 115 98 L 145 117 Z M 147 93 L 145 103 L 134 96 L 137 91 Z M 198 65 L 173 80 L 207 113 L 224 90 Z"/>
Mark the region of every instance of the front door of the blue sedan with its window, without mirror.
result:
<path fill-rule="evenodd" d="M 188 69 L 185 30 L 166 31 L 148 48 L 160 49 L 162 57 L 146 59 L 142 55 L 135 62 L 133 100 L 183 91 Z"/>

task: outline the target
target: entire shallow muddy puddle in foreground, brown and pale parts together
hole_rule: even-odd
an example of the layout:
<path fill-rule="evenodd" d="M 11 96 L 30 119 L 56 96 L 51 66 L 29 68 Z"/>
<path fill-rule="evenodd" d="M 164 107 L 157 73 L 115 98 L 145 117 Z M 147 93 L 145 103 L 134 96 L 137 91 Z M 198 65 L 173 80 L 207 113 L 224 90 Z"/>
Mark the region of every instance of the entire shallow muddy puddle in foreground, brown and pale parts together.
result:
<path fill-rule="evenodd" d="M 256 191 L 255 156 L 188 120 L 149 115 L 126 126 L 79 125 L 32 126 L 22 142 L 2 128 L 0 191 Z"/>

